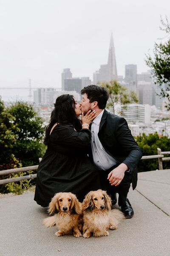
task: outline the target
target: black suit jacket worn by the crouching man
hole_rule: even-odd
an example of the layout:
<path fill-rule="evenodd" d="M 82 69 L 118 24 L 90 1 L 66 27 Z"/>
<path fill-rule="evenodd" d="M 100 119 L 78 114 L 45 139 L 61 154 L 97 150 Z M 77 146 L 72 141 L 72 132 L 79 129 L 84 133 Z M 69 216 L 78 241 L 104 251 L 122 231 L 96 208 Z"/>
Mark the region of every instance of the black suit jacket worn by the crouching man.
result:
<path fill-rule="evenodd" d="M 130 169 L 132 187 L 136 188 L 136 165 L 142 157 L 142 151 L 134 140 L 125 118 L 104 110 L 99 126 L 98 137 L 103 148 L 119 164 L 125 163 Z M 89 154 L 92 157 L 92 154 Z"/>

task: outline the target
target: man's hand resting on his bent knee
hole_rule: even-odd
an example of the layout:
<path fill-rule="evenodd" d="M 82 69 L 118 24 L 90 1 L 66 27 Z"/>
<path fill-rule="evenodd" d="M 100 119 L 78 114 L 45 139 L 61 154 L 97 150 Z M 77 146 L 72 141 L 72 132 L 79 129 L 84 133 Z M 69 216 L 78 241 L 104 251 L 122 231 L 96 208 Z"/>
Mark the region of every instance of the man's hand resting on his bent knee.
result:
<path fill-rule="evenodd" d="M 128 169 L 129 168 L 125 163 L 121 163 L 118 167 L 113 169 L 108 174 L 108 180 L 110 181 L 111 186 L 118 186 L 121 183 L 123 177 L 125 176 L 125 171 L 127 171 Z"/>

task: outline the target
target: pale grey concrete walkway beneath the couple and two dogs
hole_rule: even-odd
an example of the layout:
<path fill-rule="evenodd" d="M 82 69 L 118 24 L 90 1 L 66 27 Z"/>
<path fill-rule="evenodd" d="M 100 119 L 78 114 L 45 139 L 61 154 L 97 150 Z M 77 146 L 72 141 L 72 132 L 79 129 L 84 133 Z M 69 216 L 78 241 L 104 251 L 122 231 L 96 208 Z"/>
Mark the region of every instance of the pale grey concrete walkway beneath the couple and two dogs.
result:
<path fill-rule="evenodd" d="M 0 256 L 170 256 L 170 169 L 138 177 L 128 196 L 135 214 L 108 237 L 56 237 L 33 192 L 0 199 Z"/>

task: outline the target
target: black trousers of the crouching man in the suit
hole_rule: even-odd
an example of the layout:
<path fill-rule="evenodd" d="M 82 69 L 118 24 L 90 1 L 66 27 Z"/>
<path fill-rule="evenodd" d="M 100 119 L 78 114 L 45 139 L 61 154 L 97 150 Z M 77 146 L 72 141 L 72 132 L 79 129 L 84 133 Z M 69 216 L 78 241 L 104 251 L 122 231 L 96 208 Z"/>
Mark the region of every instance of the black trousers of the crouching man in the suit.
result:
<path fill-rule="evenodd" d="M 119 199 L 118 199 L 118 204 L 119 206 L 122 206 L 125 204 L 126 198 L 127 198 L 127 193 L 129 192 L 130 189 L 130 183 L 131 181 L 131 175 L 129 172 L 125 172 L 125 176 L 122 179 L 121 183 L 118 186 L 111 186 L 108 180 L 108 174 L 116 167 L 113 167 L 107 171 L 105 170 L 99 170 L 100 173 L 100 181 L 101 181 L 101 186 L 103 190 L 106 190 L 108 195 L 113 197 L 115 193 L 119 194 Z"/>

